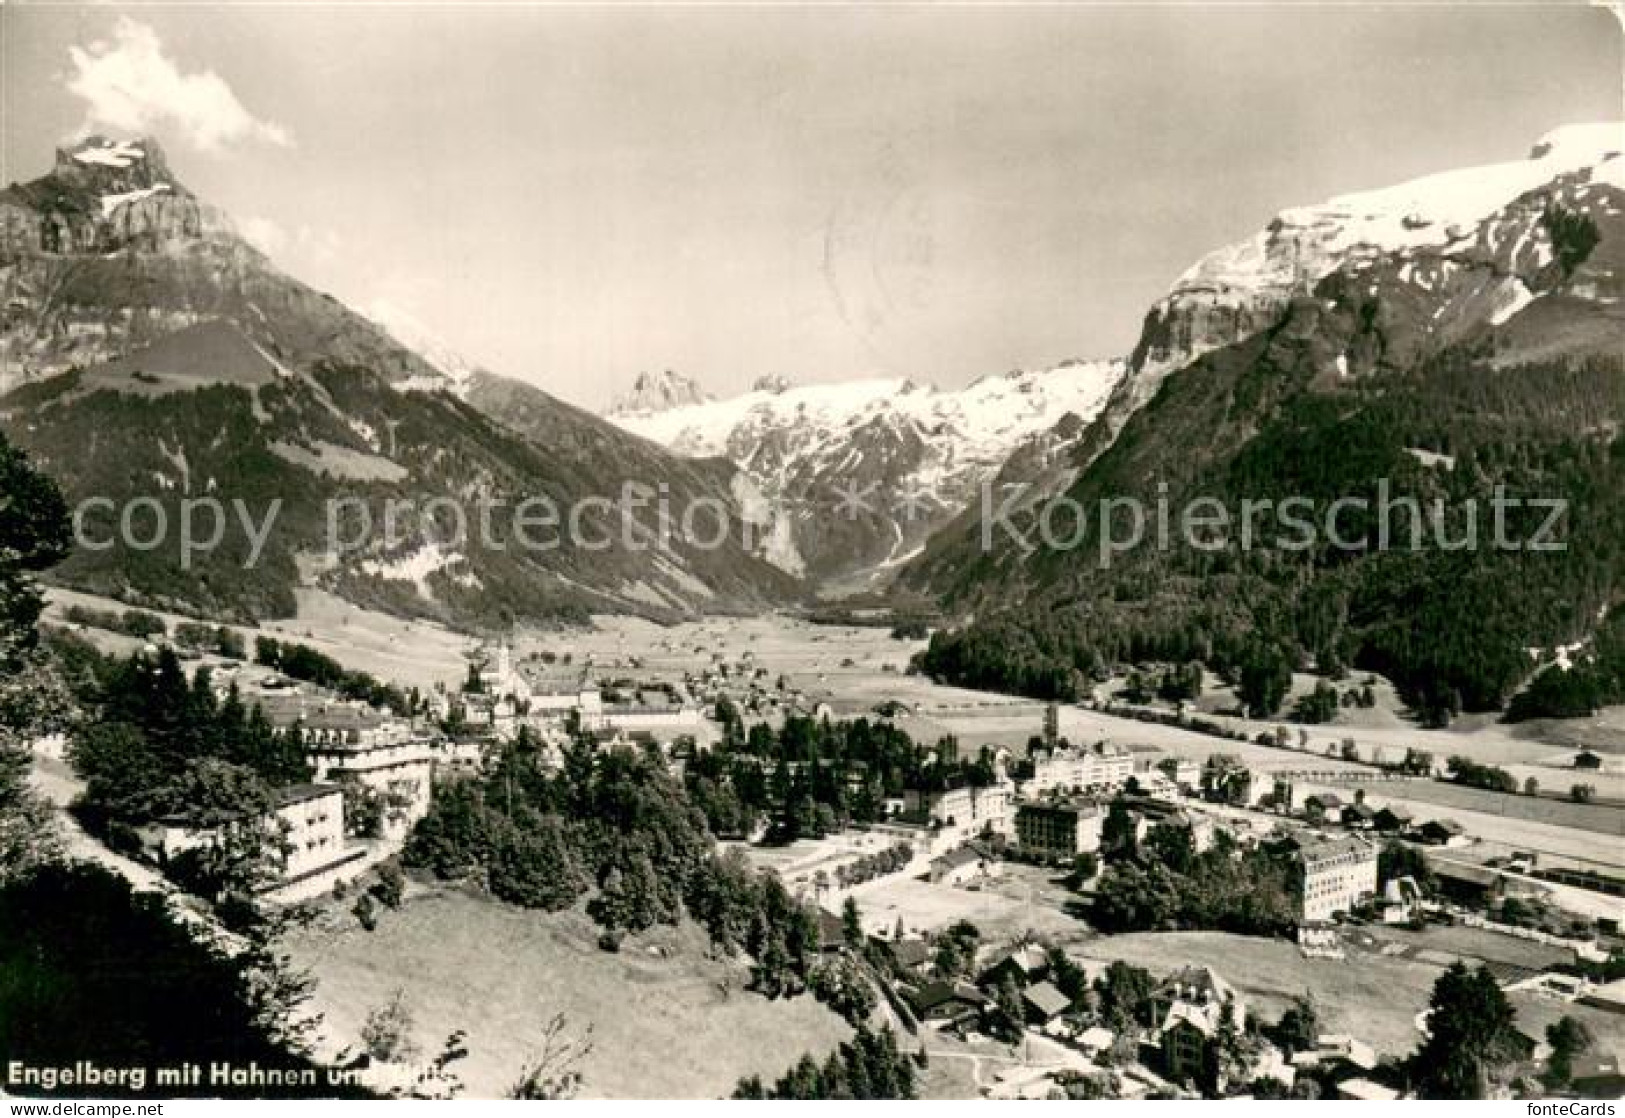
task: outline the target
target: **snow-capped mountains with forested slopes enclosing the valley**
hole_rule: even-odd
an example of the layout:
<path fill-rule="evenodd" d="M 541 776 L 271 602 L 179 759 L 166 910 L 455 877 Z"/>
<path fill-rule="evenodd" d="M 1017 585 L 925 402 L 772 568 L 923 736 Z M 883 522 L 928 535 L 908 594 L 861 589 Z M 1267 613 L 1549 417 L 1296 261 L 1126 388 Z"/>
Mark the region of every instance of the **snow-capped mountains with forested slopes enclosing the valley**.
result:
<path fill-rule="evenodd" d="M 1607 700 L 1625 697 L 1622 150 L 1622 125 L 1568 127 L 1524 159 L 1285 210 L 1180 276 L 1124 359 L 959 390 L 764 377 L 722 400 L 666 372 L 600 419 L 283 275 L 154 143 L 89 138 L 0 193 L 0 422 L 70 499 L 151 496 L 174 517 L 188 494 L 281 497 L 252 574 L 232 533 L 190 566 L 119 546 L 55 574 L 200 614 L 283 616 L 299 585 L 470 624 L 890 592 L 960 621 L 926 671 L 1040 697 L 1124 661 L 1199 660 L 1381 671 L 1430 722 L 1502 708 L 1531 681 Z M 336 497 L 567 505 L 627 481 L 756 530 L 627 548 L 596 525 L 608 551 L 535 552 L 447 548 L 429 522 L 323 546 Z M 1410 497 L 1441 502 L 1458 540 L 1498 489 L 1566 500 L 1563 549 L 1285 548 L 1259 531 L 1251 549 L 1175 540 L 1102 564 L 1098 525 L 1069 549 L 1025 544 L 1063 494 Z M 988 496 L 1009 512 L 991 546 Z M 1344 535 L 1375 538 L 1373 517 Z M 1544 518 L 1528 510 L 1513 535 Z"/>

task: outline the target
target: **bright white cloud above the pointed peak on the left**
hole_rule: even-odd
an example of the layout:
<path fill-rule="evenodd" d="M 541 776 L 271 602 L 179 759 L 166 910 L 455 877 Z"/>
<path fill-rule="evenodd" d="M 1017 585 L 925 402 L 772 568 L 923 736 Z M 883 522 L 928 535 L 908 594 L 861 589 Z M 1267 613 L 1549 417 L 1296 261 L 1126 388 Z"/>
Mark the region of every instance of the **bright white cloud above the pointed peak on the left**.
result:
<path fill-rule="evenodd" d="M 67 88 L 84 101 L 84 130 L 166 128 L 200 151 L 244 141 L 292 145 L 288 128 L 249 112 L 213 70 L 184 73 L 145 23 L 120 18 L 112 42 L 68 47 L 68 57 L 73 73 Z"/>

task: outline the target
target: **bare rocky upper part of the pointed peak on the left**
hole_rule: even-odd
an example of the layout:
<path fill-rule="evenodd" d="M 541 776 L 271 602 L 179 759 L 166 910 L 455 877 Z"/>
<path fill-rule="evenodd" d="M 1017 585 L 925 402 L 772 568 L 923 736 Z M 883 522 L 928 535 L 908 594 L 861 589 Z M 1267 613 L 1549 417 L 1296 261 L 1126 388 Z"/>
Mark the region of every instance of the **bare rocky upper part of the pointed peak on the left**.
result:
<path fill-rule="evenodd" d="M 440 370 L 332 296 L 278 271 L 198 200 L 151 140 L 93 136 L 0 192 L 0 392 L 114 361 L 206 322 L 236 322 L 291 364 Z"/>

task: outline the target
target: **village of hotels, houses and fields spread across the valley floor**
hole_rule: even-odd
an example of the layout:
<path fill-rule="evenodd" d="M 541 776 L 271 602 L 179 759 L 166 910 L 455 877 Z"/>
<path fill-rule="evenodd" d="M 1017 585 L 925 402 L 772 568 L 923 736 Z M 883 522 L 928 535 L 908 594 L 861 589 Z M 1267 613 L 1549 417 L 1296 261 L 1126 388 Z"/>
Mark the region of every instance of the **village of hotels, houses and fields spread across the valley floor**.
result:
<path fill-rule="evenodd" d="M 99 827 L 62 736 L 36 743 L 36 782 L 75 806 L 96 856 L 206 900 L 240 882 L 200 874 L 200 855 L 270 835 L 252 889 L 314 913 L 301 934 L 317 1004 L 325 986 L 358 988 L 343 968 L 369 936 L 382 944 L 432 905 L 578 908 L 580 889 L 533 900 L 535 882 L 436 853 L 462 826 L 445 804 L 624 754 L 681 788 L 720 855 L 769 874 L 800 913 L 804 942 L 783 944 L 793 978 L 765 977 L 756 957 L 720 980 L 723 996 L 744 996 L 734 982 L 772 999 L 806 988 L 852 1027 L 887 1027 L 928 1097 L 1398 1098 L 1415 1090 L 1402 1061 L 1443 1032 L 1430 1030 L 1438 991 L 1479 980 L 1516 1011 L 1495 1092 L 1550 1081 L 1554 1060 L 1565 1092 L 1610 1097 L 1625 1082 L 1612 754 L 1523 759 L 1592 793 L 1531 796 L 1544 811 L 1519 817 L 1506 793 L 1461 780 L 1438 734 L 1248 725 L 1222 697 L 1164 702 L 1123 679 L 1079 704 L 946 687 L 910 671 L 921 642 L 902 627 L 600 619 L 468 640 L 340 606 L 301 644 L 93 601 L 58 595 L 47 621 L 257 708 L 304 769 L 258 817 L 205 795 Z M 374 674 L 408 626 L 424 655 L 401 679 Z M 1373 684 L 1349 679 L 1354 694 Z M 1378 744 L 1399 739 L 1415 744 Z M 447 894 L 460 889 L 483 899 Z M 583 951 L 686 951 L 658 928 L 694 918 L 687 904 L 618 925 L 590 902 L 601 933 Z M 338 941 L 359 956 L 330 951 Z M 712 928 L 707 957 L 723 942 Z M 746 938 L 723 954 L 778 947 L 752 952 Z M 393 990 L 395 1011 L 414 983 L 448 982 L 385 957 L 359 988 L 379 1003 Z M 327 1014 L 327 1055 L 364 1051 L 377 1012 Z M 470 1030 L 476 1094 L 500 1082 L 473 1071 L 492 1055 L 476 1020 L 422 1024 Z M 614 1055 L 600 1042 L 600 1060 Z M 387 1082 L 424 1074 L 387 1050 L 369 1063 Z M 582 1077 L 588 1094 L 635 1090 Z"/>

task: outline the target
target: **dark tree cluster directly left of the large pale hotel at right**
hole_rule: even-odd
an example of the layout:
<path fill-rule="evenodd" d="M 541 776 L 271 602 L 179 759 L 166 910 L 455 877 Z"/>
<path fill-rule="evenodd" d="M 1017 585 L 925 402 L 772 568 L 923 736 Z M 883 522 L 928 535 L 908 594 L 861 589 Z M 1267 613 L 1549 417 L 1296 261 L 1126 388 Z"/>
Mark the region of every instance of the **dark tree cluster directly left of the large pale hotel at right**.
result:
<path fill-rule="evenodd" d="M 1110 847 L 1110 848 L 1108 848 Z M 1292 866 L 1266 850 L 1243 850 L 1224 830 L 1198 853 L 1191 829 L 1157 824 L 1144 842 L 1121 801 L 1108 809 L 1090 923 L 1102 931 L 1233 931 L 1284 936 L 1295 926 Z"/>

